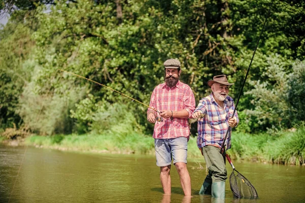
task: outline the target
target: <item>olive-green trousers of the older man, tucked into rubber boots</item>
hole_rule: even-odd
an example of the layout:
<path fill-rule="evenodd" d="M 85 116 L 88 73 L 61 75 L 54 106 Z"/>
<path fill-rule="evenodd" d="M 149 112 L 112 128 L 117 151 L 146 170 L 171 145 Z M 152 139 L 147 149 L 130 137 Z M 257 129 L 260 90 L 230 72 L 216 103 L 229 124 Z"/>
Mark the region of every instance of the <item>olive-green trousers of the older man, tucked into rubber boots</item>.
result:
<path fill-rule="evenodd" d="M 226 181 L 227 169 L 220 148 L 206 145 L 201 150 L 208 168 L 208 175 L 204 181 L 208 183 Z"/>

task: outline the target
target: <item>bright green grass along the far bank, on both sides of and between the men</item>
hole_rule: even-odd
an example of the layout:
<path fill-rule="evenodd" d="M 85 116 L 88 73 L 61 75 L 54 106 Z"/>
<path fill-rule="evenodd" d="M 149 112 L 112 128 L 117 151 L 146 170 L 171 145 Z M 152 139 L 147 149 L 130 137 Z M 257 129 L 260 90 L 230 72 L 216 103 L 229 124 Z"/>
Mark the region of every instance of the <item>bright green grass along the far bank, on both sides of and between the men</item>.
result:
<path fill-rule="evenodd" d="M 197 137 L 190 137 L 188 157 L 202 159 L 197 148 Z M 67 151 L 93 153 L 154 154 L 154 139 L 137 133 L 57 134 L 32 136 L 26 145 Z M 305 163 L 305 126 L 294 132 L 270 136 L 267 133 L 233 133 L 228 154 L 235 160 L 302 165 Z"/>

